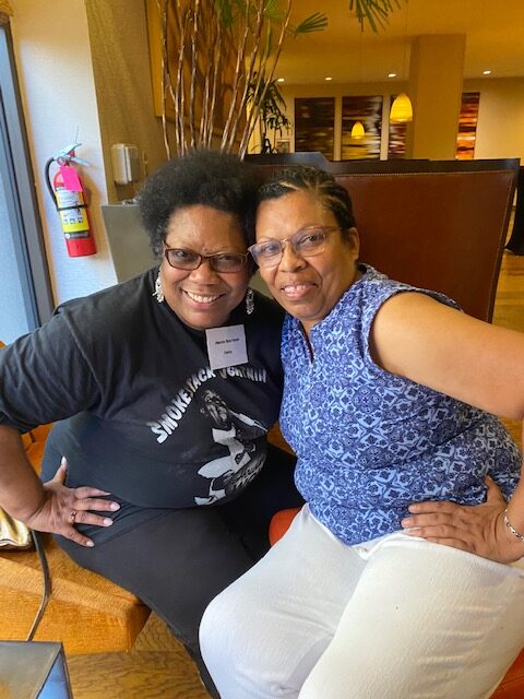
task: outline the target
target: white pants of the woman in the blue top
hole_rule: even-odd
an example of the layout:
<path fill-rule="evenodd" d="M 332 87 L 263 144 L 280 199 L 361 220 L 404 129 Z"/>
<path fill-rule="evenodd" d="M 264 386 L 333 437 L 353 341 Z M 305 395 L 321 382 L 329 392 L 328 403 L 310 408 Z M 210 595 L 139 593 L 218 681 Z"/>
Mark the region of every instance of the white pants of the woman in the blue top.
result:
<path fill-rule="evenodd" d="M 305 506 L 200 639 L 222 699 L 481 699 L 524 645 L 524 559 L 403 532 L 346 546 Z"/>

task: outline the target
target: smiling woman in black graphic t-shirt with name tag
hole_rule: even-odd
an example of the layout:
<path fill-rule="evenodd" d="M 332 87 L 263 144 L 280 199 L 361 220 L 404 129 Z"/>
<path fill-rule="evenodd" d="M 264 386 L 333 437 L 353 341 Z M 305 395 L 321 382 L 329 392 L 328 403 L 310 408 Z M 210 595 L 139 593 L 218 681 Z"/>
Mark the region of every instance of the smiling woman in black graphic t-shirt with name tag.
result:
<path fill-rule="evenodd" d="M 157 265 L 0 352 L 2 507 L 136 594 L 198 662 L 206 604 L 301 501 L 294 459 L 266 442 L 283 313 L 248 286 L 255 185 L 233 155 L 164 164 L 139 196 Z M 20 434 L 51 420 L 43 485 Z"/>

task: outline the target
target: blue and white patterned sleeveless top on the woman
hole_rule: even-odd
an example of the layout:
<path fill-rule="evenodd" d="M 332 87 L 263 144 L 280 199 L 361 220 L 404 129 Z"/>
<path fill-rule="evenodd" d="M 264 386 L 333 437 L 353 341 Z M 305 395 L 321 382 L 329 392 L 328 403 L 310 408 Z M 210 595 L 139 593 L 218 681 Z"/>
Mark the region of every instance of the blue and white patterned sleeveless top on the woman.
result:
<path fill-rule="evenodd" d="M 298 461 L 296 484 L 314 517 L 346 544 L 401 529 L 421 500 L 477 505 L 489 474 L 510 497 L 520 453 L 493 416 L 409 379 L 371 358 L 369 333 L 382 304 L 401 292 L 442 294 L 362 276 L 310 333 L 287 316 L 281 428 Z"/>

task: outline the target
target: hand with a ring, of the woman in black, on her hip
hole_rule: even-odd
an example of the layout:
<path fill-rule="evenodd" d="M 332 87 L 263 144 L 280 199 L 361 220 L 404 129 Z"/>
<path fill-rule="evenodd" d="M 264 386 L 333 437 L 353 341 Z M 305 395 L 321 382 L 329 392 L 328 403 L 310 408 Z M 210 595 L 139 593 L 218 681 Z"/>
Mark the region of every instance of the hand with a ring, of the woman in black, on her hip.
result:
<path fill-rule="evenodd" d="M 62 457 L 53 478 L 44 484 L 45 499 L 41 506 L 25 523 L 39 532 L 60 534 L 81 546 L 94 546 L 93 541 L 81 534 L 75 524 L 110 526 L 110 518 L 95 514 L 92 510 L 115 512 L 120 505 L 100 497 L 109 495 L 106 490 L 88 486 L 68 488 L 64 485 L 67 472 L 68 462 Z"/>

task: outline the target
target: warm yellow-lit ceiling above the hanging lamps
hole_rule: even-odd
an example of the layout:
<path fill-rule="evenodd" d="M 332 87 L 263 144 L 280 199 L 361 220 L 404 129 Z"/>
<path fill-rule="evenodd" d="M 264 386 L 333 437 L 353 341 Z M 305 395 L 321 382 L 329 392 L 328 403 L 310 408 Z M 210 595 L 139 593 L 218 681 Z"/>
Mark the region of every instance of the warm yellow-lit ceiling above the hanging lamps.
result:
<path fill-rule="evenodd" d="M 395 4 L 394 0 L 393 4 Z M 409 73 L 409 43 L 421 34 L 465 34 L 465 78 L 524 75 L 524 0 L 401 1 L 385 29 L 373 34 L 349 12 L 349 0 L 295 0 L 294 20 L 327 15 L 327 29 L 290 38 L 276 70 L 286 83 L 374 82 Z"/>

